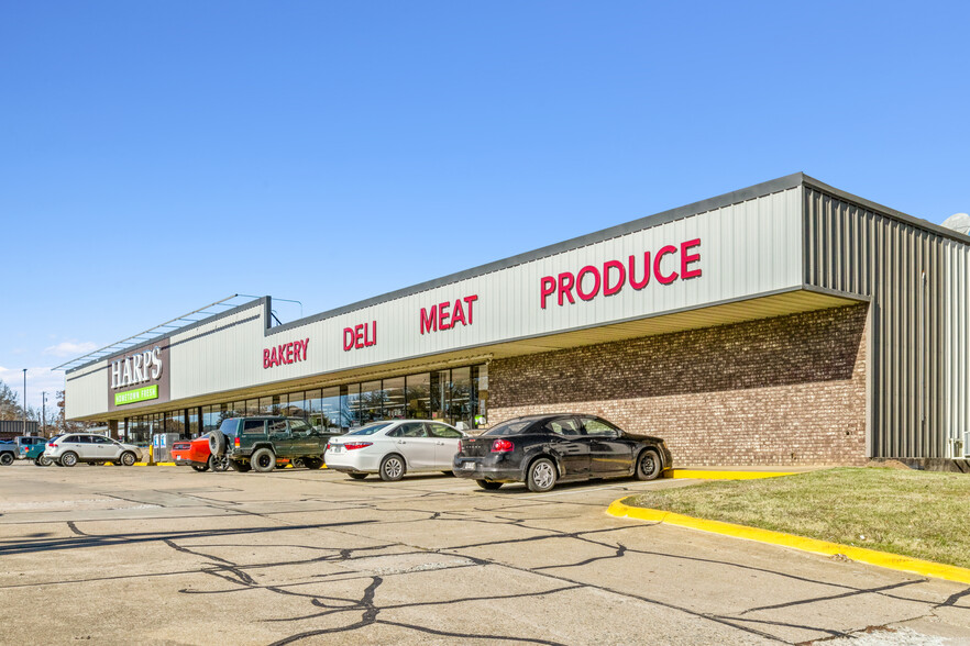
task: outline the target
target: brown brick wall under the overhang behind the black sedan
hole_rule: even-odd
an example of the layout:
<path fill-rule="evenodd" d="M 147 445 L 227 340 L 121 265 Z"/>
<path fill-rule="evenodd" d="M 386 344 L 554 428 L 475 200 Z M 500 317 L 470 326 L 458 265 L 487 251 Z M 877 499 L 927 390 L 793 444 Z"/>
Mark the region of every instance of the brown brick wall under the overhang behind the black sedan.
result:
<path fill-rule="evenodd" d="M 496 359 L 488 421 L 558 411 L 687 465 L 866 461 L 867 305 Z"/>

